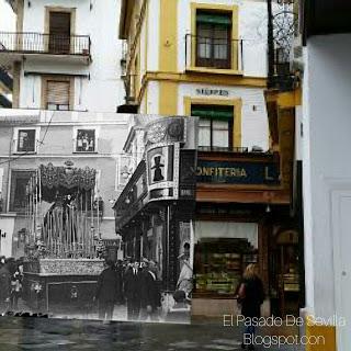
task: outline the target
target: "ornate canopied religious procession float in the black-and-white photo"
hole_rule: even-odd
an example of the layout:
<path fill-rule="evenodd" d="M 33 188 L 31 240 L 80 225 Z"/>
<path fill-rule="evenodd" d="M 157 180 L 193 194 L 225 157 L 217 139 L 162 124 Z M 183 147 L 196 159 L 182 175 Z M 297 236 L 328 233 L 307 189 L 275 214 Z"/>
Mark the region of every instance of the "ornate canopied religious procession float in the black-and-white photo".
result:
<path fill-rule="evenodd" d="M 41 165 L 26 186 L 24 294 L 33 310 L 89 313 L 103 269 L 97 171 Z"/>

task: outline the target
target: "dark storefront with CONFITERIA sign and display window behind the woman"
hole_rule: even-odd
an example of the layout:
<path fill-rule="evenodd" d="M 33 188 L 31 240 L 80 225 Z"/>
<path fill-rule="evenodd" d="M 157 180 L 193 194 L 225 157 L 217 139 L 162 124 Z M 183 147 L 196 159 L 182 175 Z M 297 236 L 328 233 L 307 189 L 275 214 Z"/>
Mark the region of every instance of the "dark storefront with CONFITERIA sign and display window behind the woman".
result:
<path fill-rule="evenodd" d="M 193 315 L 235 312 L 249 263 L 264 282 L 264 313 L 298 315 L 303 258 L 279 155 L 199 152 L 196 176 Z"/>

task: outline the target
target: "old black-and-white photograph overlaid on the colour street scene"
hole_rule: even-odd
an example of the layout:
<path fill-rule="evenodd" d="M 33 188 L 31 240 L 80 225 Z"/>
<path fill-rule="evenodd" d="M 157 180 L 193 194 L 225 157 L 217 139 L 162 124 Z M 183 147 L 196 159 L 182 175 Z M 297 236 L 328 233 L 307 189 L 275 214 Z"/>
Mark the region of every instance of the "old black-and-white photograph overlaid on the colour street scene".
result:
<path fill-rule="evenodd" d="M 180 162 L 182 150 L 195 150 L 195 118 L 79 115 L 77 127 L 70 113 L 33 112 L 25 131 L 42 143 L 4 173 L 9 211 L 19 216 L 1 219 L 1 294 L 9 294 L 1 313 L 190 322 L 194 199 L 179 196 L 174 168 L 195 168 L 194 152 Z M 22 137 L 21 111 L 1 121 L 10 145 Z M 177 143 L 167 134 L 174 122 L 189 131 Z M 158 144 L 150 141 L 155 123 L 165 129 Z M 194 194 L 194 172 L 192 181 Z"/>

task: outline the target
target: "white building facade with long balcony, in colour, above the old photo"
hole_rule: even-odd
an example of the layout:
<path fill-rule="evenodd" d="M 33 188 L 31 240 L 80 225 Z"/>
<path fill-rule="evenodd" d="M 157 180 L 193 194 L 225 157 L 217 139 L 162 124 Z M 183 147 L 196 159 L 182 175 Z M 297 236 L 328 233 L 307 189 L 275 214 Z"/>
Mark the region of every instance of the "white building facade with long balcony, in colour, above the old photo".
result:
<path fill-rule="evenodd" d="M 0 33 L 13 107 L 116 112 L 124 99 L 120 1 L 9 1 L 16 30 Z"/>

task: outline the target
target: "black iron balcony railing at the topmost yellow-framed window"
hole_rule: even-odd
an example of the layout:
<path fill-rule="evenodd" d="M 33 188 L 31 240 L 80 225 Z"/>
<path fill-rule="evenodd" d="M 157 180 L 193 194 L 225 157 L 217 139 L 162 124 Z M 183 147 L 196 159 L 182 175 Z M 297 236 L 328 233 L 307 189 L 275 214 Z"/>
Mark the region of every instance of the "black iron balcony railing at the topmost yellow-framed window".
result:
<path fill-rule="evenodd" d="M 242 39 L 186 34 L 185 68 L 244 70 Z"/>

